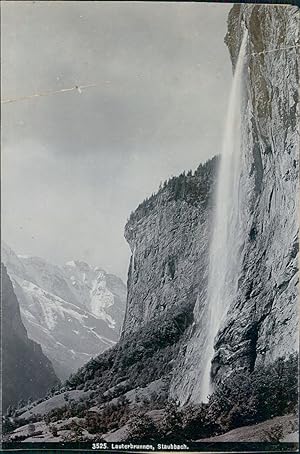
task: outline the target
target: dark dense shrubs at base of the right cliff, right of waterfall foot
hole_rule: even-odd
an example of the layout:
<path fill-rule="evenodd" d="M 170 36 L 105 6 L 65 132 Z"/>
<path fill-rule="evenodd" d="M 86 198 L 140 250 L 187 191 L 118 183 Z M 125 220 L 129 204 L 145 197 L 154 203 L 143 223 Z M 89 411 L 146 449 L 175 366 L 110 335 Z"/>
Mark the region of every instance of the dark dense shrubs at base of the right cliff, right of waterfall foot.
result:
<path fill-rule="evenodd" d="M 210 397 L 208 415 L 230 430 L 290 413 L 298 402 L 297 377 L 298 355 L 232 374 Z"/>

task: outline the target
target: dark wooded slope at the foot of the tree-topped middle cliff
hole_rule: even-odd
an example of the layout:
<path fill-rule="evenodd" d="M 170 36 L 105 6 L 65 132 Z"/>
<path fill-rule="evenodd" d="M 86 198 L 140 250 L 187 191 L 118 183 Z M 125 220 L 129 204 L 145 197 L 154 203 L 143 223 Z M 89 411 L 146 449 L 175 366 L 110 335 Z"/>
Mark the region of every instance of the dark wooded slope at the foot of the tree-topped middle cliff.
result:
<path fill-rule="evenodd" d="M 97 389 L 100 396 L 108 388 L 126 381 L 126 390 L 145 386 L 167 375 L 172 369 L 179 341 L 193 321 L 192 305 L 178 305 L 163 318 L 151 320 L 139 330 L 124 336 L 113 348 L 90 360 L 66 382 L 68 389 Z M 104 399 L 105 400 L 105 399 Z"/>

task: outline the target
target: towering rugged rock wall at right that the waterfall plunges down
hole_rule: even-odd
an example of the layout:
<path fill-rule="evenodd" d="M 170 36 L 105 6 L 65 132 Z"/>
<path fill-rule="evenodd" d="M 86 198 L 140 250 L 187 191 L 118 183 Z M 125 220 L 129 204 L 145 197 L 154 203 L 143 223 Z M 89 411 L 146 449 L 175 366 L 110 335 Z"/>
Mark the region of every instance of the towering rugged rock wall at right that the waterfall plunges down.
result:
<path fill-rule="evenodd" d="M 235 5 L 225 39 L 233 67 L 245 27 L 239 227 L 244 244 L 238 292 L 215 341 L 214 382 L 298 349 L 299 10 Z M 203 305 L 199 298 L 194 334 L 171 386 L 181 403 L 199 399 Z"/>

